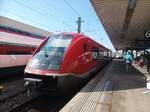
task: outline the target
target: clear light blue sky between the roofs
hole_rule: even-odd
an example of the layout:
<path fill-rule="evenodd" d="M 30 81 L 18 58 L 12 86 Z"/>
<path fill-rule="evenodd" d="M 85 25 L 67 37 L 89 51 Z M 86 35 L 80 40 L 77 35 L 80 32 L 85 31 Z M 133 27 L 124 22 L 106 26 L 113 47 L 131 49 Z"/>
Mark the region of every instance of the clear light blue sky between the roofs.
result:
<path fill-rule="evenodd" d="M 115 51 L 90 0 L 0 0 L 0 16 L 54 33 L 77 32 L 81 17 L 81 33 Z"/>

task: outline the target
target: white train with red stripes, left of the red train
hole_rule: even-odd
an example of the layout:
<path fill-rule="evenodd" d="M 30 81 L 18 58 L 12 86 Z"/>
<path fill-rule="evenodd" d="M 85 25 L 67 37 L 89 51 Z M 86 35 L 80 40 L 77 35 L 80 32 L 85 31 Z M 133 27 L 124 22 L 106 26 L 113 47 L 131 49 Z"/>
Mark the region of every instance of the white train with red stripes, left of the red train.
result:
<path fill-rule="evenodd" d="M 0 25 L 0 76 L 25 67 L 45 36 Z"/>

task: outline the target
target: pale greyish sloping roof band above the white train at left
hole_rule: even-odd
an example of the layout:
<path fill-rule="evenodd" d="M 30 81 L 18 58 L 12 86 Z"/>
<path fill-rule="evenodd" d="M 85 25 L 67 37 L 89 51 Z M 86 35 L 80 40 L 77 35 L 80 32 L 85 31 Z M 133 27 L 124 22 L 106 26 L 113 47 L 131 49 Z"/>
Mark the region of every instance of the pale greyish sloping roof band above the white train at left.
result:
<path fill-rule="evenodd" d="M 50 34 L 52 34 L 51 32 L 45 31 L 43 29 L 36 28 L 34 26 L 30 26 L 3 16 L 0 16 L 0 24 L 4 26 L 24 30 L 27 32 L 43 35 L 43 36 L 49 36 Z"/>

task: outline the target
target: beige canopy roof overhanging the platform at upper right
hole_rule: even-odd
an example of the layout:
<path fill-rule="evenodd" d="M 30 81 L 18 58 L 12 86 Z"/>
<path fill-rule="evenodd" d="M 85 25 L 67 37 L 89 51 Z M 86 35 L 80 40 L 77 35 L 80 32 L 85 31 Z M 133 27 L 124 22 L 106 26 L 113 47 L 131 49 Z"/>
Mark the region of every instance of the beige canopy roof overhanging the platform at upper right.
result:
<path fill-rule="evenodd" d="M 133 46 L 150 31 L 150 0 L 91 0 L 116 49 Z"/>

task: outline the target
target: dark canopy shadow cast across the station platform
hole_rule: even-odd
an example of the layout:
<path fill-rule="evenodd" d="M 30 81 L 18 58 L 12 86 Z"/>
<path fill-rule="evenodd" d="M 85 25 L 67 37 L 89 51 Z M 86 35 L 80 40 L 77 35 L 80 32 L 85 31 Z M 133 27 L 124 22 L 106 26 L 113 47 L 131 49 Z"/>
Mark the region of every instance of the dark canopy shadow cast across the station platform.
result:
<path fill-rule="evenodd" d="M 100 86 L 106 81 L 111 81 L 112 83 L 110 85 L 112 87 L 109 87 L 112 89 L 108 88 L 106 91 L 129 90 L 144 88 L 146 86 L 146 77 L 144 74 L 140 73 L 132 66 L 130 66 L 129 71 L 127 72 L 126 64 L 121 60 L 113 60 L 110 65 L 98 75 L 99 76 L 96 76 L 96 79 L 92 80 L 87 87 L 82 90 L 82 92 L 103 91 L 104 88 L 101 88 Z M 100 81 L 101 78 L 105 79 L 105 81 Z M 95 89 L 93 90 L 92 88 Z"/>

